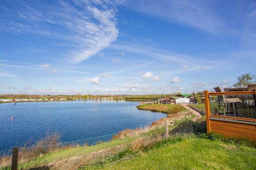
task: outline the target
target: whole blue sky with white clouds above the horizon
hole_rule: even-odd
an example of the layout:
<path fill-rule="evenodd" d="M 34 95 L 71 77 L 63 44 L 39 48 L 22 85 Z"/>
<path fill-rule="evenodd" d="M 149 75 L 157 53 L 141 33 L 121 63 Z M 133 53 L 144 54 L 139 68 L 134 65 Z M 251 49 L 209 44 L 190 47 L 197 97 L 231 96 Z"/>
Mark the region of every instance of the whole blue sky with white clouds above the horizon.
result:
<path fill-rule="evenodd" d="M 255 73 L 253 0 L 1 0 L 0 94 L 166 94 Z"/>

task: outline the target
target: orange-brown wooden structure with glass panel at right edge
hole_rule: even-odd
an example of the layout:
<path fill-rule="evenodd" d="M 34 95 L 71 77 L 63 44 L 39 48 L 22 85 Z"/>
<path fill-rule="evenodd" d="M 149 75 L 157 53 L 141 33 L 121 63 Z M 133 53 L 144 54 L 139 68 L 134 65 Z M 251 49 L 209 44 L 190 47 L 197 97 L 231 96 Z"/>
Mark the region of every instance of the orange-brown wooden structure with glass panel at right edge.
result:
<path fill-rule="evenodd" d="M 207 133 L 256 141 L 256 89 L 204 91 L 204 96 Z M 209 96 L 218 99 L 210 102 Z"/>

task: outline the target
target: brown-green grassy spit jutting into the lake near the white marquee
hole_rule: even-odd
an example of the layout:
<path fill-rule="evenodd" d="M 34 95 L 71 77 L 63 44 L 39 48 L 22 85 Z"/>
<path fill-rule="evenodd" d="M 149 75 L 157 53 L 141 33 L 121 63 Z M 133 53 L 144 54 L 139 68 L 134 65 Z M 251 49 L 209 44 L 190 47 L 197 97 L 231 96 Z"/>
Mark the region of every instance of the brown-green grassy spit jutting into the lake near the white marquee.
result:
<path fill-rule="evenodd" d="M 162 105 L 162 104 L 152 104 L 152 105 L 137 105 L 137 109 L 150 110 L 152 112 L 162 112 L 166 114 L 173 114 L 177 112 L 187 111 L 182 105 Z"/>

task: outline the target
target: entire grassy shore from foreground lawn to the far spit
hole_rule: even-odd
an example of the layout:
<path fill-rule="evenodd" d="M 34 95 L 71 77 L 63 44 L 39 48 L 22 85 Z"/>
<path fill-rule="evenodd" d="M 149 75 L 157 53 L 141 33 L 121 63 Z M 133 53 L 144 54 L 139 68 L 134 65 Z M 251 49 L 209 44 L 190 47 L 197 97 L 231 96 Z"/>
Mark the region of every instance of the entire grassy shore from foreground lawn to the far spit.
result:
<path fill-rule="evenodd" d="M 168 115 L 151 126 L 120 131 L 109 142 L 39 154 L 19 162 L 19 169 L 255 169 L 255 142 L 207 135 L 205 119 L 192 121 L 195 115 L 184 112 L 181 105 L 138 107 Z M 169 122 L 168 140 L 164 137 L 165 120 Z M 1 168 L 0 164 L 0 169 L 10 166 Z"/>

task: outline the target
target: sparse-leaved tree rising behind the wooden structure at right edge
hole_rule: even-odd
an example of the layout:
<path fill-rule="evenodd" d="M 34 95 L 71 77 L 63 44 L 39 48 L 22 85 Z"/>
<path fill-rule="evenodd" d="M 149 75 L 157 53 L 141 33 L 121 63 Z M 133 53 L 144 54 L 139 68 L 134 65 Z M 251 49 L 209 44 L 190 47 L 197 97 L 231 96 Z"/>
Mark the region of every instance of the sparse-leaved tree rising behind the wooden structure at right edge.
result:
<path fill-rule="evenodd" d="M 237 77 L 237 83 L 233 87 L 247 87 L 247 84 L 256 83 L 256 75 L 251 75 L 251 72 L 242 74 Z"/>

